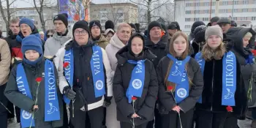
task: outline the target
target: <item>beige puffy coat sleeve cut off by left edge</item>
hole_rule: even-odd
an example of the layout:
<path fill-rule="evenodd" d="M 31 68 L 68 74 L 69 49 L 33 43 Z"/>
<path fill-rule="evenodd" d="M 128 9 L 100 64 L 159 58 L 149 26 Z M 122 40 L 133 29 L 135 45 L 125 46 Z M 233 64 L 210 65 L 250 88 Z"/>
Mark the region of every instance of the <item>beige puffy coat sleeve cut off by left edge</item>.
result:
<path fill-rule="evenodd" d="M 0 86 L 2 86 L 7 83 L 11 66 L 10 48 L 4 39 L 0 39 L 0 57 Z"/>

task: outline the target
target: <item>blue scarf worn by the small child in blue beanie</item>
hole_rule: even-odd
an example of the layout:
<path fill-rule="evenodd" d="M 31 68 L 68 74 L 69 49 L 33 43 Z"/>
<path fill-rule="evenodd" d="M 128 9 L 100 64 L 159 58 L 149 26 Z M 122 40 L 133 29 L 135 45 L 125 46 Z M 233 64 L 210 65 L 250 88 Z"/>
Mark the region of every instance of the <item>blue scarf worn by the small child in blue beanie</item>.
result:
<path fill-rule="evenodd" d="M 56 81 L 54 65 L 52 61 L 45 60 L 45 121 L 56 121 L 60 119 L 59 100 L 56 92 Z M 23 65 L 17 67 L 16 82 L 20 93 L 32 99 L 29 83 L 26 78 Z M 22 127 L 30 127 L 32 114 L 26 110 L 20 110 L 20 122 Z M 34 119 L 32 121 L 34 127 Z"/>

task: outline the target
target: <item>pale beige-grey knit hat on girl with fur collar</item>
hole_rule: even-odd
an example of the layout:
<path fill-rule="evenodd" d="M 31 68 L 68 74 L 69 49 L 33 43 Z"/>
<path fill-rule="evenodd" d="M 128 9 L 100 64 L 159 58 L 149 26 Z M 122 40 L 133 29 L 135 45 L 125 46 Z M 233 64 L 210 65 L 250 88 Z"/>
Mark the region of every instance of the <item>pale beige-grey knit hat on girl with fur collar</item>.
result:
<path fill-rule="evenodd" d="M 222 29 L 219 26 L 208 26 L 208 28 L 206 29 L 205 39 L 207 40 L 208 37 L 210 37 L 211 35 L 217 35 L 223 40 Z"/>

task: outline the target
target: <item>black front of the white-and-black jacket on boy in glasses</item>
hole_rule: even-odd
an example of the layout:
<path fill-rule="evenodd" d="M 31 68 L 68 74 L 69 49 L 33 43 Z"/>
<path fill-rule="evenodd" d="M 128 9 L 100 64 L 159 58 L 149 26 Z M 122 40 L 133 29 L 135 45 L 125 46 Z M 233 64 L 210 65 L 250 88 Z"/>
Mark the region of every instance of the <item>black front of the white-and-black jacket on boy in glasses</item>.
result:
<path fill-rule="evenodd" d="M 93 104 L 102 100 L 102 97 L 95 97 L 94 94 L 94 81 L 91 73 L 91 56 L 92 56 L 92 42 L 88 42 L 87 45 L 79 46 L 77 42 L 72 40 L 66 45 L 65 50 L 73 48 L 74 53 L 74 78 L 73 86 L 76 89 L 82 89 L 83 98 L 86 100 L 86 105 Z M 105 66 L 105 91 L 108 93 L 107 77 Z M 107 95 L 107 94 L 105 94 Z M 111 97 L 105 97 L 105 100 L 110 100 Z"/>

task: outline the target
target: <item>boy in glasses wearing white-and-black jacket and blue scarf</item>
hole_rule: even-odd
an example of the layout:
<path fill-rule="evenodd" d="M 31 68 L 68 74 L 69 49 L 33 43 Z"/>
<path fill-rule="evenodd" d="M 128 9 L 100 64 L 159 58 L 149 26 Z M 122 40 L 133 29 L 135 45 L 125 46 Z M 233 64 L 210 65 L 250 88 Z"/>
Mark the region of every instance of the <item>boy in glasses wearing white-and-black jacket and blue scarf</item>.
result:
<path fill-rule="evenodd" d="M 112 98 L 111 67 L 103 48 L 89 40 L 88 23 L 80 20 L 73 26 L 73 39 L 61 48 L 54 59 L 59 71 L 60 90 L 69 105 L 70 121 L 75 128 L 102 128 L 103 106 Z"/>

